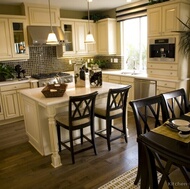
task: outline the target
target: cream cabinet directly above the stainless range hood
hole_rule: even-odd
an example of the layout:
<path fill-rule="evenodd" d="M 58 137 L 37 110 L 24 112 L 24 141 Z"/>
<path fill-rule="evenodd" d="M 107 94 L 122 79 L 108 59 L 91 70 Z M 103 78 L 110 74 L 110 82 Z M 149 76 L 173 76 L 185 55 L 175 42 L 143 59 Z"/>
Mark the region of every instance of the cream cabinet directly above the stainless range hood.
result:
<path fill-rule="evenodd" d="M 25 4 L 25 12 L 28 18 L 29 25 L 36 25 L 36 26 L 50 25 L 48 4 L 47 6 Z M 58 8 L 51 7 L 51 22 L 53 26 L 60 26 L 60 11 Z"/>

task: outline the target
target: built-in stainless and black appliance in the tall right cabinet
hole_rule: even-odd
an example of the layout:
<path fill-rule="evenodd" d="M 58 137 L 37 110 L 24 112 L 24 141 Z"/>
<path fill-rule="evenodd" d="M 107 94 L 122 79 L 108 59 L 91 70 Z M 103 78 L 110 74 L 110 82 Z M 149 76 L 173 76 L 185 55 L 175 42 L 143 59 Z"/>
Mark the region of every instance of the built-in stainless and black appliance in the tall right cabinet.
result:
<path fill-rule="evenodd" d="M 174 62 L 175 38 L 149 39 L 149 61 Z"/>

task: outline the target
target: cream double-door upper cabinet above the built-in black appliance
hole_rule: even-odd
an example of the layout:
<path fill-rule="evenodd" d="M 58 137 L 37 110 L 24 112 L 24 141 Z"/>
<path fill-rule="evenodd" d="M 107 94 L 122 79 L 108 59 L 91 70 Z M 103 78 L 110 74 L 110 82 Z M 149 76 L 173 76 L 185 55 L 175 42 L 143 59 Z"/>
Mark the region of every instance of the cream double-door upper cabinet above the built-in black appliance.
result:
<path fill-rule="evenodd" d="M 184 22 L 189 16 L 189 5 L 183 1 L 158 3 L 148 6 L 148 36 L 176 35 L 174 31 L 182 29 L 177 20 Z"/>

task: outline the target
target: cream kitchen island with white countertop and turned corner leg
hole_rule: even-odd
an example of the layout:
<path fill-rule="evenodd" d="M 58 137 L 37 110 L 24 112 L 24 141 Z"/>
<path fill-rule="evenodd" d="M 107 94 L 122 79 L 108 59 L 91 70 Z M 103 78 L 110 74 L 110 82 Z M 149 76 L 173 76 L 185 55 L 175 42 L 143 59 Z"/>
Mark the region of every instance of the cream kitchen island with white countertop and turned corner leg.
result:
<path fill-rule="evenodd" d="M 98 91 L 96 104 L 105 103 L 105 98 L 110 88 L 124 86 L 103 82 L 102 87 L 98 88 L 76 88 L 73 83 L 69 83 L 63 97 L 55 98 L 45 98 L 41 93 L 43 87 L 20 91 L 23 102 L 25 128 L 29 142 L 41 155 L 47 156 L 51 154 L 53 167 L 61 166 L 54 117 L 57 113 L 68 110 L 69 96 L 84 95 Z M 100 120 L 95 119 L 95 129 L 97 126 L 101 127 L 101 123 L 99 122 Z M 89 131 L 86 130 L 85 132 Z M 63 133 L 63 136 L 67 138 L 68 133 Z"/>

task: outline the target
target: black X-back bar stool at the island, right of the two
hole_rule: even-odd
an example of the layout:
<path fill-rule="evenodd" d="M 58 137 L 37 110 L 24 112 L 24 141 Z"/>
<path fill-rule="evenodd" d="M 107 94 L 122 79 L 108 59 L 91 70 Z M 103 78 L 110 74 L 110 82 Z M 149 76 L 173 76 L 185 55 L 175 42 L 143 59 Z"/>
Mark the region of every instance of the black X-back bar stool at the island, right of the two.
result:
<path fill-rule="evenodd" d="M 127 97 L 131 85 L 109 89 L 107 102 L 97 104 L 95 107 L 95 116 L 106 121 L 106 128 L 100 129 L 95 132 L 96 135 L 107 140 L 108 150 L 111 150 L 110 143 L 121 137 L 125 138 L 127 142 L 127 129 L 126 129 L 126 113 L 127 113 Z M 122 119 L 122 127 L 114 124 L 117 118 Z M 112 129 L 118 131 L 119 134 L 112 134 Z"/>

